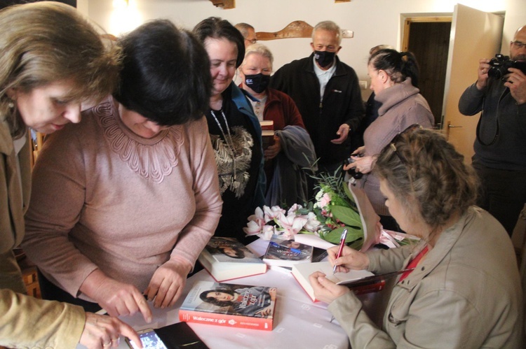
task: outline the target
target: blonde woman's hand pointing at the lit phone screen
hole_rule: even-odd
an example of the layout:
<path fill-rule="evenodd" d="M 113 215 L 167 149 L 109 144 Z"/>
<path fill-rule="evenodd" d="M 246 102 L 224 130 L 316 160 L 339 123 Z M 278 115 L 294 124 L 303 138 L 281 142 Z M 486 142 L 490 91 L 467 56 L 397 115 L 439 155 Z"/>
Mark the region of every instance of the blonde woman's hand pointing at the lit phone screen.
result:
<path fill-rule="evenodd" d="M 142 348 L 139 335 L 130 325 L 112 316 L 86 313 L 86 323 L 79 343 L 88 349 L 116 348 L 119 346 L 120 335 L 128 337 Z"/>

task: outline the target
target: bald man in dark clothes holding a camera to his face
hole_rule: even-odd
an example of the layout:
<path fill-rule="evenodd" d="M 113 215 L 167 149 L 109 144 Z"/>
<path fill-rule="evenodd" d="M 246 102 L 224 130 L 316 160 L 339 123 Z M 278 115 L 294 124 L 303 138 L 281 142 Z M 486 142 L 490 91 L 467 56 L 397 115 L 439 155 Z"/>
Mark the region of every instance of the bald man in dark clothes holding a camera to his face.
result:
<path fill-rule="evenodd" d="M 481 181 L 478 205 L 511 236 L 526 202 L 526 25 L 515 32 L 509 60 L 480 59 L 477 82 L 460 97 L 459 111 L 482 111 L 473 155 Z"/>

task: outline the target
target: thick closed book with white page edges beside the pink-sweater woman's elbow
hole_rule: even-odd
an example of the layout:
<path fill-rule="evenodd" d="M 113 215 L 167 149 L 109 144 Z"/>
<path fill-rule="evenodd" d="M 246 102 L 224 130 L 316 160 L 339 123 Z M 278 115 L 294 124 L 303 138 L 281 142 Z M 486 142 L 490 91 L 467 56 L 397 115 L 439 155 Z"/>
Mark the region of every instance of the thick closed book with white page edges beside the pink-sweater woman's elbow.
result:
<path fill-rule="evenodd" d="M 198 261 L 218 282 L 267 271 L 267 264 L 236 238 L 212 236 Z"/>

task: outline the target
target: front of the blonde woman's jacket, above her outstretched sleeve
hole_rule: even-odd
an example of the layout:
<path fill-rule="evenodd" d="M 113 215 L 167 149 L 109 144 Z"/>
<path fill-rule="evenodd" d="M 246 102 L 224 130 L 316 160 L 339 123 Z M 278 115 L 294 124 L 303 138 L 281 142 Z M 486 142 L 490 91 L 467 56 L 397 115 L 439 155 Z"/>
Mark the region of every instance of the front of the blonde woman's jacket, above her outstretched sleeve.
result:
<path fill-rule="evenodd" d="M 20 268 L 11 250 L 20 245 L 25 231 L 24 213 L 31 190 L 29 142 L 20 150 L 17 159 L 8 123 L 2 117 L 0 156 L 0 288 L 25 292 Z"/>

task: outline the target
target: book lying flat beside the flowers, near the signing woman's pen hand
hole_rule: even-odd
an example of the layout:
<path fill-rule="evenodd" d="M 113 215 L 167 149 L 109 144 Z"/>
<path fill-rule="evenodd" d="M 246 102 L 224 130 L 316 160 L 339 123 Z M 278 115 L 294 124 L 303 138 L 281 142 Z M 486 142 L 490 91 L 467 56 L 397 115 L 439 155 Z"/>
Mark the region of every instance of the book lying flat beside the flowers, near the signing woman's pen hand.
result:
<path fill-rule="evenodd" d="M 287 240 L 281 235 L 274 234 L 269 241 L 263 262 L 269 265 L 292 266 L 297 263 L 309 263 L 312 258 L 313 247 Z"/>

